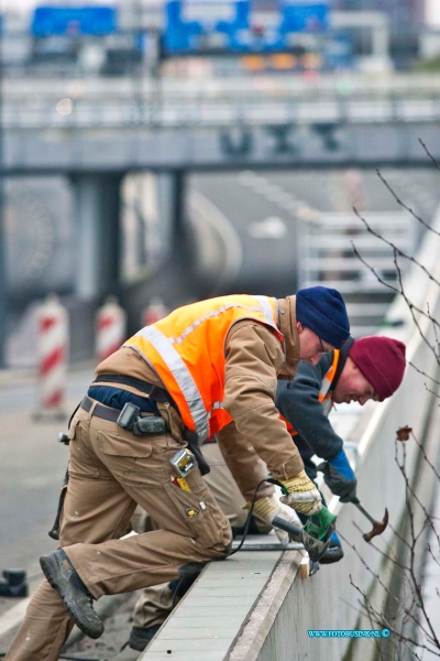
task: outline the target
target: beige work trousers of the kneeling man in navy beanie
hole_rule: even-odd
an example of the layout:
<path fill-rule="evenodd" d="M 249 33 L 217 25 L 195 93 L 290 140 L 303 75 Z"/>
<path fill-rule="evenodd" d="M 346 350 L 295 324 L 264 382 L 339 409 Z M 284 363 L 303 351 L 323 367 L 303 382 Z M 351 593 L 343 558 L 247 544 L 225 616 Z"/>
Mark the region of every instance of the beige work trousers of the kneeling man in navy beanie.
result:
<path fill-rule="evenodd" d="M 221 557 L 231 541 L 227 517 L 198 468 L 190 492 L 172 483 L 182 447 L 169 434 L 134 436 L 79 409 L 69 429 L 69 483 L 59 546 L 95 598 L 173 581 L 188 562 Z M 161 530 L 124 540 L 136 503 Z M 44 579 L 6 661 L 56 661 L 73 624 Z"/>

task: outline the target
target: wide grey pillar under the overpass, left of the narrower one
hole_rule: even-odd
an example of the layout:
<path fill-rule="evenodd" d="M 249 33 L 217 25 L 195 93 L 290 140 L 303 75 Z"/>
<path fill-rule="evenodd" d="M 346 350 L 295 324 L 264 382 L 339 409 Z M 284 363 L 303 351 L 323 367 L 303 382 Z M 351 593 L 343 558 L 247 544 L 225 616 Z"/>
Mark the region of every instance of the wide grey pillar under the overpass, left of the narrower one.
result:
<path fill-rule="evenodd" d="M 120 187 L 123 173 L 75 174 L 76 283 L 79 299 L 117 293 L 120 275 Z"/>

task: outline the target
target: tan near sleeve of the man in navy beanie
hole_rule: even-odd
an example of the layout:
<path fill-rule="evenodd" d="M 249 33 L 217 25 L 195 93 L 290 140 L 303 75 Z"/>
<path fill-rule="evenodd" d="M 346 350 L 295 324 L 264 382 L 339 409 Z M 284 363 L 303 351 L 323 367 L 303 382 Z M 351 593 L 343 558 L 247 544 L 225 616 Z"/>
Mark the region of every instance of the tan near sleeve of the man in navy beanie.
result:
<path fill-rule="evenodd" d="M 302 459 L 275 407 L 284 364 L 279 339 L 262 324 L 237 325 L 228 334 L 226 356 L 224 409 L 276 479 L 295 477 Z"/>

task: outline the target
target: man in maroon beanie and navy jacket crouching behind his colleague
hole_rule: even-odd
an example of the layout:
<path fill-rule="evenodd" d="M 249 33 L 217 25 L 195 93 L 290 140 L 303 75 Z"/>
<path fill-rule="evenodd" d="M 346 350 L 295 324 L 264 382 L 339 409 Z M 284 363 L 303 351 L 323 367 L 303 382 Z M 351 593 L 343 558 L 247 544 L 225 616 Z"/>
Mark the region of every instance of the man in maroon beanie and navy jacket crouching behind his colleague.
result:
<path fill-rule="evenodd" d="M 384 401 L 391 397 L 404 378 L 405 349 L 404 343 L 391 337 L 349 337 L 342 349 L 326 354 L 318 365 L 300 361 L 293 381 L 278 381 L 275 403 L 301 455 L 308 477 L 316 480 L 318 475 L 314 455 L 323 458 L 324 463 L 318 468 L 323 472 L 327 486 L 342 502 L 355 497 L 358 481 L 344 452 L 343 441 L 333 430 L 328 415 L 333 403 L 353 401 L 363 405 L 371 399 Z M 210 438 L 204 444 L 204 454 L 210 457 L 212 466 L 212 472 L 205 479 L 228 514 L 232 530 L 235 527 L 240 534 L 242 530 L 238 523 L 243 522 L 254 489 L 267 468 L 261 465 L 249 442 L 238 434 L 233 425 L 218 434 L 218 443 L 216 438 Z M 253 509 L 252 532 L 268 532 L 271 518 L 277 516 L 288 519 L 288 513 L 286 509 L 280 510 L 274 487 L 265 485 L 264 492 L 258 490 Z M 306 522 L 304 514 L 299 514 L 299 518 Z M 297 519 L 295 522 L 298 524 Z M 284 541 L 283 531 L 274 530 Z M 339 562 L 342 557 L 341 541 L 333 532 L 320 564 Z M 173 605 L 185 594 L 188 584 L 172 582 L 143 590 L 133 614 L 129 640 L 131 648 L 139 651 L 145 649 Z"/>

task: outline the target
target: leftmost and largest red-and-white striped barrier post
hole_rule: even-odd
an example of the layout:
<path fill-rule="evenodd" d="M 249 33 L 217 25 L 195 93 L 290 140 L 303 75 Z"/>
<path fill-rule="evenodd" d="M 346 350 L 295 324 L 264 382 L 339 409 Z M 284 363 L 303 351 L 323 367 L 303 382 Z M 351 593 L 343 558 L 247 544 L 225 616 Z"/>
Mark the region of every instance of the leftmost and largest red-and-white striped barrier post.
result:
<path fill-rule="evenodd" d="M 38 315 L 37 389 L 38 409 L 35 418 L 64 418 L 69 348 L 69 319 L 56 294 L 50 294 Z"/>

